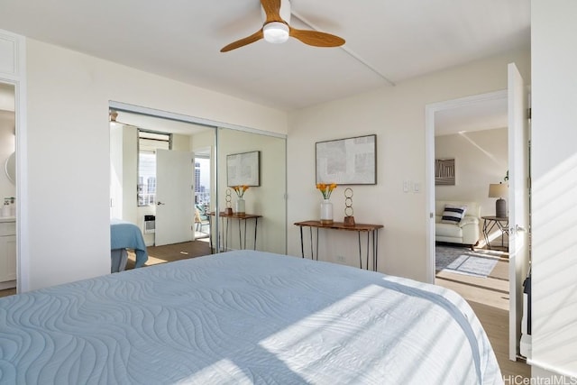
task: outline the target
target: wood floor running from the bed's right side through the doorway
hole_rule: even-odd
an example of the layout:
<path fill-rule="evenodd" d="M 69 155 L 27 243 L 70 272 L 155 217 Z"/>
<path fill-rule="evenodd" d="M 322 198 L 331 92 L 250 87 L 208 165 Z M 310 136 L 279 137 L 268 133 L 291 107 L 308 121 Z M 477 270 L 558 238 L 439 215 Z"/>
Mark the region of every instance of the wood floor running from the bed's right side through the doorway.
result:
<path fill-rule="evenodd" d="M 453 289 L 471 305 L 489 336 L 503 378 L 526 383 L 521 379 L 531 378 L 531 367 L 508 359 L 508 254 L 503 254 L 487 278 L 440 271 L 435 284 Z"/>

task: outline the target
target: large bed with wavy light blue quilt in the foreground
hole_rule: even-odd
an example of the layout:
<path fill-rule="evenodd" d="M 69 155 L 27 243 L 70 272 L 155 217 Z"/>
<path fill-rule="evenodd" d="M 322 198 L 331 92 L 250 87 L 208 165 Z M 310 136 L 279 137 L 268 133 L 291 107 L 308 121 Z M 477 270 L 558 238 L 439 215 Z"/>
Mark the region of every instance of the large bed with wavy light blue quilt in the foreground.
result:
<path fill-rule="evenodd" d="M 0 298 L 0 383 L 502 383 L 453 291 L 234 251 Z"/>

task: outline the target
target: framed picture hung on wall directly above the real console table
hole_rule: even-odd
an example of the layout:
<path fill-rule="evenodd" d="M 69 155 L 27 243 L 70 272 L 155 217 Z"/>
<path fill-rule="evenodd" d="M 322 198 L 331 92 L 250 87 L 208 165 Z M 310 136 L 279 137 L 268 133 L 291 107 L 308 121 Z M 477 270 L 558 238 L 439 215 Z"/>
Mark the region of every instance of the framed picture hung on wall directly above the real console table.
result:
<path fill-rule="evenodd" d="M 316 183 L 377 184 L 377 135 L 316 142 Z"/>

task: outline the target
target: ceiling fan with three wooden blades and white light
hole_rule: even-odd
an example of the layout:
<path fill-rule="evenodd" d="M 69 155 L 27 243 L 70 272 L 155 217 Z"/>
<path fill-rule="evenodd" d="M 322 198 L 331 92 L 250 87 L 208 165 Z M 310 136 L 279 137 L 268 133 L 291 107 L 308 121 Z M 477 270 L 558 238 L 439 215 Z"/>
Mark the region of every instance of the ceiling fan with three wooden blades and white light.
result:
<path fill-rule="evenodd" d="M 298 30 L 290 26 L 289 0 L 261 0 L 262 28 L 241 40 L 234 41 L 223 47 L 221 52 L 235 50 L 255 41 L 264 39 L 272 43 L 281 43 L 289 37 L 298 39 L 315 47 L 338 47 L 344 44 L 344 39 L 330 33 Z"/>

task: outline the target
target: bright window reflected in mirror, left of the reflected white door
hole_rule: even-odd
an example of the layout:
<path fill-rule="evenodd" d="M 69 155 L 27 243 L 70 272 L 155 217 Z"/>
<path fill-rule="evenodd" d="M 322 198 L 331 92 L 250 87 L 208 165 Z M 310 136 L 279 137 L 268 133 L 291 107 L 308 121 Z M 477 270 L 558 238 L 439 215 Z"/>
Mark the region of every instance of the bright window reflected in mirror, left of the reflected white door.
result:
<path fill-rule="evenodd" d="M 172 134 L 138 130 L 138 206 L 156 202 L 156 150 L 172 148 Z"/>

